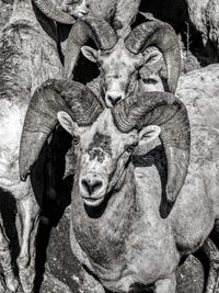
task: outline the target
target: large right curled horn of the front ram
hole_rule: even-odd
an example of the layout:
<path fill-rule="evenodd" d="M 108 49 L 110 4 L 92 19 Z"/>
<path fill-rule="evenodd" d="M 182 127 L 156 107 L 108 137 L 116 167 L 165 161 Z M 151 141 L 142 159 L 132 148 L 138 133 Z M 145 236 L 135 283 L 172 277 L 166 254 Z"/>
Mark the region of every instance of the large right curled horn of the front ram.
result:
<path fill-rule="evenodd" d="M 155 124 L 168 160 L 166 199 L 174 202 L 185 181 L 189 164 L 191 128 L 185 105 L 172 93 L 147 92 L 127 98 L 113 109 L 115 124 L 122 132 Z"/>

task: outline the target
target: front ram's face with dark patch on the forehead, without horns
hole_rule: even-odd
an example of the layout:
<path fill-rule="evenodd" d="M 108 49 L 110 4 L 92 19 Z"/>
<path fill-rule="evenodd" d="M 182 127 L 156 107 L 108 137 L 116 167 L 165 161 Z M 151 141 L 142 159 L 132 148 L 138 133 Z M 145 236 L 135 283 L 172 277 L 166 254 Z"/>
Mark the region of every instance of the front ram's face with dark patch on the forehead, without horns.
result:
<path fill-rule="evenodd" d="M 58 120 L 71 135 L 79 137 L 76 147 L 78 190 L 85 205 L 97 206 L 123 182 L 127 162 L 142 135 L 136 129 L 122 133 L 107 109 L 92 126 L 80 127 L 66 112 L 59 112 Z"/>

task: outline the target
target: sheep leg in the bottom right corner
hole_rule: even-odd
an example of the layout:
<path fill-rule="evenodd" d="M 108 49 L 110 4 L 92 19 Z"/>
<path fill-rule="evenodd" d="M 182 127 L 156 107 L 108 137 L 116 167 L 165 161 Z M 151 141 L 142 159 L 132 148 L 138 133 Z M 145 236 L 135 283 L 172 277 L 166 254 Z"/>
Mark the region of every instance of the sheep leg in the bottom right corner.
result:
<path fill-rule="evenodd" d="M 219 270 L 219 251 L 210 238 L 207 238 L 201 249 L 209 259 L 209 274 L 206 285 L 206 293 L 214 293 L 219 290 L 218 286 L 218 270 Z"/>

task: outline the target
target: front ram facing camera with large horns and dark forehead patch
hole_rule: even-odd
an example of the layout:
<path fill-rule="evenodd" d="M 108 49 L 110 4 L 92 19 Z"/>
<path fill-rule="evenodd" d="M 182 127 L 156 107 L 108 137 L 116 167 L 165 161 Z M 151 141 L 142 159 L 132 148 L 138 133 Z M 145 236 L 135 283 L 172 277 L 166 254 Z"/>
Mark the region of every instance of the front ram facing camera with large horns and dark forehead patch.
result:
<path fill-rule="evenodd" d="M 171 93 L 149 92 L 129 97 L 111 111 L 80 83 L 47 81 L 27 110 L 20 153 L 22 180 L 57 124 L 57 113 L 61 125 L 78 137 L 71 223 L 76 256 L 115 292 L 128 292 L 135 282 L 155 282 L 157 292 L 165 282 L 175 284 L 180 253 L 171 221 L 159 215 L 161 187 L 157 182 L 157 190 L 146 190 L 147 178 L 135 170 L 130 156 L 145 136 L 160 134 L 169 166 L 165 194 L 174 202 L 189 159 L 189 123 L 183 103 Z"/>

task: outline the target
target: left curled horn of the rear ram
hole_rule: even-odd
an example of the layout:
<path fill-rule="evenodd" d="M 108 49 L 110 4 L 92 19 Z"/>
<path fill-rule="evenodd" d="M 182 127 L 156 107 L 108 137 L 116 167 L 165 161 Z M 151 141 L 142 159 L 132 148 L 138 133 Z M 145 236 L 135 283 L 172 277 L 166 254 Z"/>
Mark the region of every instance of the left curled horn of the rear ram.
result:
<path fill-rule="evenodd" d="M 102 50 L 112 49 L 117 43 L 117 35 L 106 21 L 91 16 L 78 20 L 71 27 L 66 46 L 65 72 L 67 78 L 71 77 L 81 47 L 89 38 L 92 38 Z"/>

